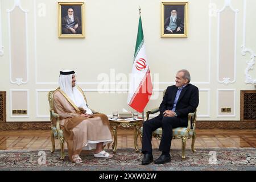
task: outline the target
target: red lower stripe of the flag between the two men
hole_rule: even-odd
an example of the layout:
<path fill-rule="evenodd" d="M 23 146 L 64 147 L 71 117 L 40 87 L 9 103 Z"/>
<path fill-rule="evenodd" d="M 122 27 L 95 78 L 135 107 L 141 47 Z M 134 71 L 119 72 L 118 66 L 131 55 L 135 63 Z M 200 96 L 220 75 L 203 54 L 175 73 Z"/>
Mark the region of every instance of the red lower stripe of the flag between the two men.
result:
<path fill-rule="evenodd" d="M 146 79 L 140 84 L 138 92 L 135 94 L 133 102 L 129 106 L 142 113 L 143 109 L 146 107 L 147 102 L 150 100 L 152 95 L 152 81 L 150 76 L 150 71 L 145 75 Z"/>

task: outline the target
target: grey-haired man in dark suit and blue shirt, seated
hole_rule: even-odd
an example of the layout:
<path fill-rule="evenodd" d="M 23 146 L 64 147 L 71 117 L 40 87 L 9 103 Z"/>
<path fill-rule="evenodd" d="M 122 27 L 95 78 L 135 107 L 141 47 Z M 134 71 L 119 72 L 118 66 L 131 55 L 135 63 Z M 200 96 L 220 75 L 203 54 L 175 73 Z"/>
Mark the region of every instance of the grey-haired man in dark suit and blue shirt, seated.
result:
<path fill-rule="evenodd" d="M 152 155 L 152 131 L 162 127 L 162 139 L 159 151 L 162 155 L 155 160 L 155 164 L 164 164 L 171 161 L 170 147 L 172 140 L 172 129 L 176 127 L 187 127 L 188 113 L 193 113 L 199 105 L 199 89 L 190 82 L 190 74 L 186 69 L 177 72 L 175 85 L 168 86 L 160 104 L 160 114 L 143 123 L 142 153 L 144 154 L 142 164 L 150 164 Z"/>

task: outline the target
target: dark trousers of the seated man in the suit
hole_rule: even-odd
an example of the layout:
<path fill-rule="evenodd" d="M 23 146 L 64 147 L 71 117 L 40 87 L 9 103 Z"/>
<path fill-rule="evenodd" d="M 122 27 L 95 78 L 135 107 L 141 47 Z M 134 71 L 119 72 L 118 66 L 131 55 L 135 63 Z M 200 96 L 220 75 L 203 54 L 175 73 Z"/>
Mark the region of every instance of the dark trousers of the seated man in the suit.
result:
<path fill-rule="evenodd" d="M 142 153 L 152 152 L 152 132 L 162 127 L 162 139 L 159 151 L 170 152 L 172 142 L 172 129 L 176 127 L 187 127 L 187 123 L 181 123 L 177 117 L 155 117 L 143 123 Z"/>

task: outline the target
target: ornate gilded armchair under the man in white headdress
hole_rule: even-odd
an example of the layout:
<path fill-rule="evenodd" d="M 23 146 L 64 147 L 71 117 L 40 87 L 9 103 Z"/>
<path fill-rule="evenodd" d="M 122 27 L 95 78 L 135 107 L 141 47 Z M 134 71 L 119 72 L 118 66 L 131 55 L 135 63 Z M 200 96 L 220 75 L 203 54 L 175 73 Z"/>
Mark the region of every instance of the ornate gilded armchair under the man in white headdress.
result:
<path fill-rule="evenodd" d="M 81 88 L 77 87 L 78 89 L 81 90 Z M 48 101 L 49 101 L 49 113 L 50 113 L 50 119 L 51 119 L 51 141 L 52 141 L 52 150 L 51 152 L 55 152 L 55 139 L 59 139 L 60 140 L 60 159 L 64 159 L 65 158 L 65 152 L 64 152 L 64 134 L 63 131 L 60 128 L 60 116 L 59 114 L 55 113 L 55 111 L 53 110 L 53 94 L 58 90 L 59 88 L 57 88 L 56 90 L 52 90 L 48 92 Z M 82 91 L 81 91 L 82 92 Z M 82 92 L 85 101 L 86 97 L 84 95 L 84 93 Z M 91 109 L 92 110 L 92 109 Z M 92 110 L 93 114 L 98 113 L 95 110 Z"/>

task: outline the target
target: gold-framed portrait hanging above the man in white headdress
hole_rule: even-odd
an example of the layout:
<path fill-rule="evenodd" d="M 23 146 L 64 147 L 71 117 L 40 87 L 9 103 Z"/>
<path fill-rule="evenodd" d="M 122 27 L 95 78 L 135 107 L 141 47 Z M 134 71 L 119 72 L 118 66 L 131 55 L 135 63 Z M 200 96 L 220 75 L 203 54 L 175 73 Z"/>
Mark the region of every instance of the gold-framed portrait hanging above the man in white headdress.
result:
<path fill-rule="evenodd" d="M 59 2 L 59 38 L 85 38 L 84 2 Z"/>

